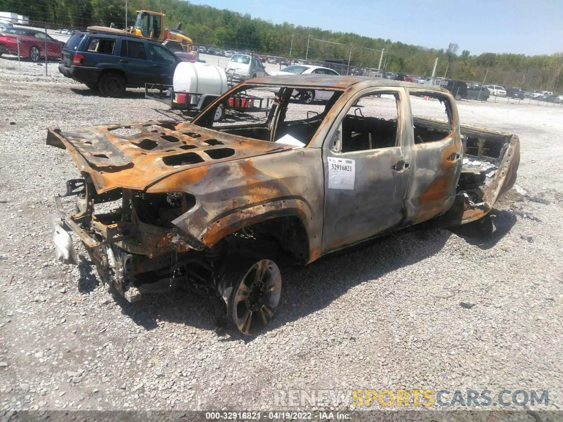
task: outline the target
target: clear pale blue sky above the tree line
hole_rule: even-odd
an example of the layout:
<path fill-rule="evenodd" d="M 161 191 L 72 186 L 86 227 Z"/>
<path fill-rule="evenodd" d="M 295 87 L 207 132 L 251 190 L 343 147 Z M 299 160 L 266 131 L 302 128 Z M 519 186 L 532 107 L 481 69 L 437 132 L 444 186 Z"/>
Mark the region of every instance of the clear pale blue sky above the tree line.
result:
<path fill-rule="evenodd" d="M 563 52 L 563 0 L 191 0 L 275 24 L 355 32 L 458 54 Z"/>

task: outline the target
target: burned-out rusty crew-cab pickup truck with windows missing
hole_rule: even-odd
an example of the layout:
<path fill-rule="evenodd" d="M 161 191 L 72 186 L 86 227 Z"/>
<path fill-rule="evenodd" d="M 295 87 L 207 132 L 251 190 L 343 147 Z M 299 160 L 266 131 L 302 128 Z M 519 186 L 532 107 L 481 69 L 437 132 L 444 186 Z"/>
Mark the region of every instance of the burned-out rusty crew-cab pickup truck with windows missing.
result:
<path fill-rule="evenodd" d="M 272 87 L 266 113 L 214 121 L 228 98 Z M 295 91 L 329 99 L 300 104 Z M 73 232 L 128 300 L 201 286 L 247 335 L 276 311 L 280 263 L 431 219 L 475 221 L 513 186 L 520 161 L 517 136 L 460 125 L 445 89 L 318 75 L 248 80 L 191 123 L 51 128 L 47 144 L 82 174 L 55 197 L 62 260 L 77 261 Z"/>

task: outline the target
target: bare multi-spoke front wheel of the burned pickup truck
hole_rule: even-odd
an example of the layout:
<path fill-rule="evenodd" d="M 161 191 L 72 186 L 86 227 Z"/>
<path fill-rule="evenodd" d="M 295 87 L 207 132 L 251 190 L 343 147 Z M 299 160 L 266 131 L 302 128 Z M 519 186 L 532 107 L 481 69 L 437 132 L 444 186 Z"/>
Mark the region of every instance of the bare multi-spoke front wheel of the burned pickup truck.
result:
<path fill-rule="evenodd" d="M 243 335 L 260 333 L 282 298 L 282 275 L 267 252 L 231 254 L 220 285 L 225 287 L 227 320 Z"/>

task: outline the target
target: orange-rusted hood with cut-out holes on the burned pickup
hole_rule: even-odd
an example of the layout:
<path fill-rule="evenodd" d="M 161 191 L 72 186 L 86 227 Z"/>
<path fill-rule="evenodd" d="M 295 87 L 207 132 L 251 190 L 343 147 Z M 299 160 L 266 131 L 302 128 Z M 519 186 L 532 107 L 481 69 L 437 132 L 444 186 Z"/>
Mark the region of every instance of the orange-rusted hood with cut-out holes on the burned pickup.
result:
<path fill-rule="evenodd" d="M 68 150 L 99 193 L 118 187 L 145 190 L 186 169 L 197 177 L 213 163 L 288 149 L 186 122 L 154 120 L 94 125 L 77 132 L 49 128 L 47 145 Z"/>

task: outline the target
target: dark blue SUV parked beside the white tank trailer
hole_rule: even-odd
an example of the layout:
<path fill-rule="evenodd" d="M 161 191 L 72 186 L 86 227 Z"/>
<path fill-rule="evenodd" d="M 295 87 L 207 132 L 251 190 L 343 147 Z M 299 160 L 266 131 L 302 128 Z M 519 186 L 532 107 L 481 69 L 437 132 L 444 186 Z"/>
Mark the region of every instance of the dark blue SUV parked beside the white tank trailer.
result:
<path fill-rule="evenodd" d="M 108 28 L 70 37 L 62 47 L 59 71 L 106 97 L 121 97 L 126 88 L 145 83 L 171 86 L 180 61 L 162 44 Z"/>

